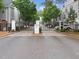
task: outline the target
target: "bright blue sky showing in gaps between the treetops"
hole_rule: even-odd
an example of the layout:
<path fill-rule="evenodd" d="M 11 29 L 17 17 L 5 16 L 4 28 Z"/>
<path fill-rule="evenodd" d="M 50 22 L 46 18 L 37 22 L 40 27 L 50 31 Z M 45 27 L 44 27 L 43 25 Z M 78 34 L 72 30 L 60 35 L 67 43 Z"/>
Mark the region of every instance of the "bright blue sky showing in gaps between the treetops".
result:
<path fill-rule="evenodd" d="M 42 5 L 42 3 L 45 0 L 33 0 L 33 2 L 37 5 L 37 10 L 43 10 L 44 6 Z M 56 4 L 58 8 L 62 8 L 63 4 Z"/>

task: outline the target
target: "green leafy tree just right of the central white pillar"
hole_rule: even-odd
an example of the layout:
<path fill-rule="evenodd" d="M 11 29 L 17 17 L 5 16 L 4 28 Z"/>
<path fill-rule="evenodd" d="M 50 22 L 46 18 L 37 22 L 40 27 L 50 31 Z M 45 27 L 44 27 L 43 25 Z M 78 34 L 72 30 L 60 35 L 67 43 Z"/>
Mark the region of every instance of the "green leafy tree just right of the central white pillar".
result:
<path fill-rule="evenodd" d="M 45 8 L 43 11 L 43 20 L 45 22 L 50 22 L 51 19 L 57 19 L 60 15 L 60 10 L 52 3 L 51 0 L 46 0 Z"/>

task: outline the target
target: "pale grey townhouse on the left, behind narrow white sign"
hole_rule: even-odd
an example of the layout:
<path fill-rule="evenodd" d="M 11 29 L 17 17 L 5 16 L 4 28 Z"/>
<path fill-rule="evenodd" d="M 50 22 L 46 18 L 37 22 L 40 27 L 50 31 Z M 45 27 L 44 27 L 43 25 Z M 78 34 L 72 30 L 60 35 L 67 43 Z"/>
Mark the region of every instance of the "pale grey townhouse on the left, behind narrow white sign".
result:
<path fill-rule="evenodd" d="M 5 21 L 5 24 L 0 24 L 0 29 L 2 30 L 10 30 L 12 20 L 15 20 L 16 25 L 19 22 L 19 11 L 13 7 L 12 0 L 3 0 L 4 10 L 0 12 L 0 20 Z"/>

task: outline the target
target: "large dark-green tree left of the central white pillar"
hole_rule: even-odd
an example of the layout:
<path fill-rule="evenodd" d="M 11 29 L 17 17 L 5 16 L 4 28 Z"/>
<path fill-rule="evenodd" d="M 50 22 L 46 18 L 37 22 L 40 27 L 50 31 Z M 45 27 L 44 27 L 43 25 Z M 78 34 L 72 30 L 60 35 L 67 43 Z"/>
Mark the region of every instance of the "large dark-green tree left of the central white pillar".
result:
<path fill-rule="evenodd" d="M 24 21 L 32 22 L 36 20 L 36 5 L 30 0 L 15 0 L 14 6 L 20 11 L 20 16 Z"/>

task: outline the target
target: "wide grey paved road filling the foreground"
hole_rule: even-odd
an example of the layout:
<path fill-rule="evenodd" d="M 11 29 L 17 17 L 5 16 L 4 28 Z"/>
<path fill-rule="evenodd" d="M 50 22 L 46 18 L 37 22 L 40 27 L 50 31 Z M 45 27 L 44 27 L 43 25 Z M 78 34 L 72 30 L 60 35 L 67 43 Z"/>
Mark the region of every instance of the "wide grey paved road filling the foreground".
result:
<path fill-rule="evenodd" d="M 0 59 L 79 59 L 78 40 L 56 32 L 40 36 L 28 33 L 19 32 L 0 39 Z"/>

